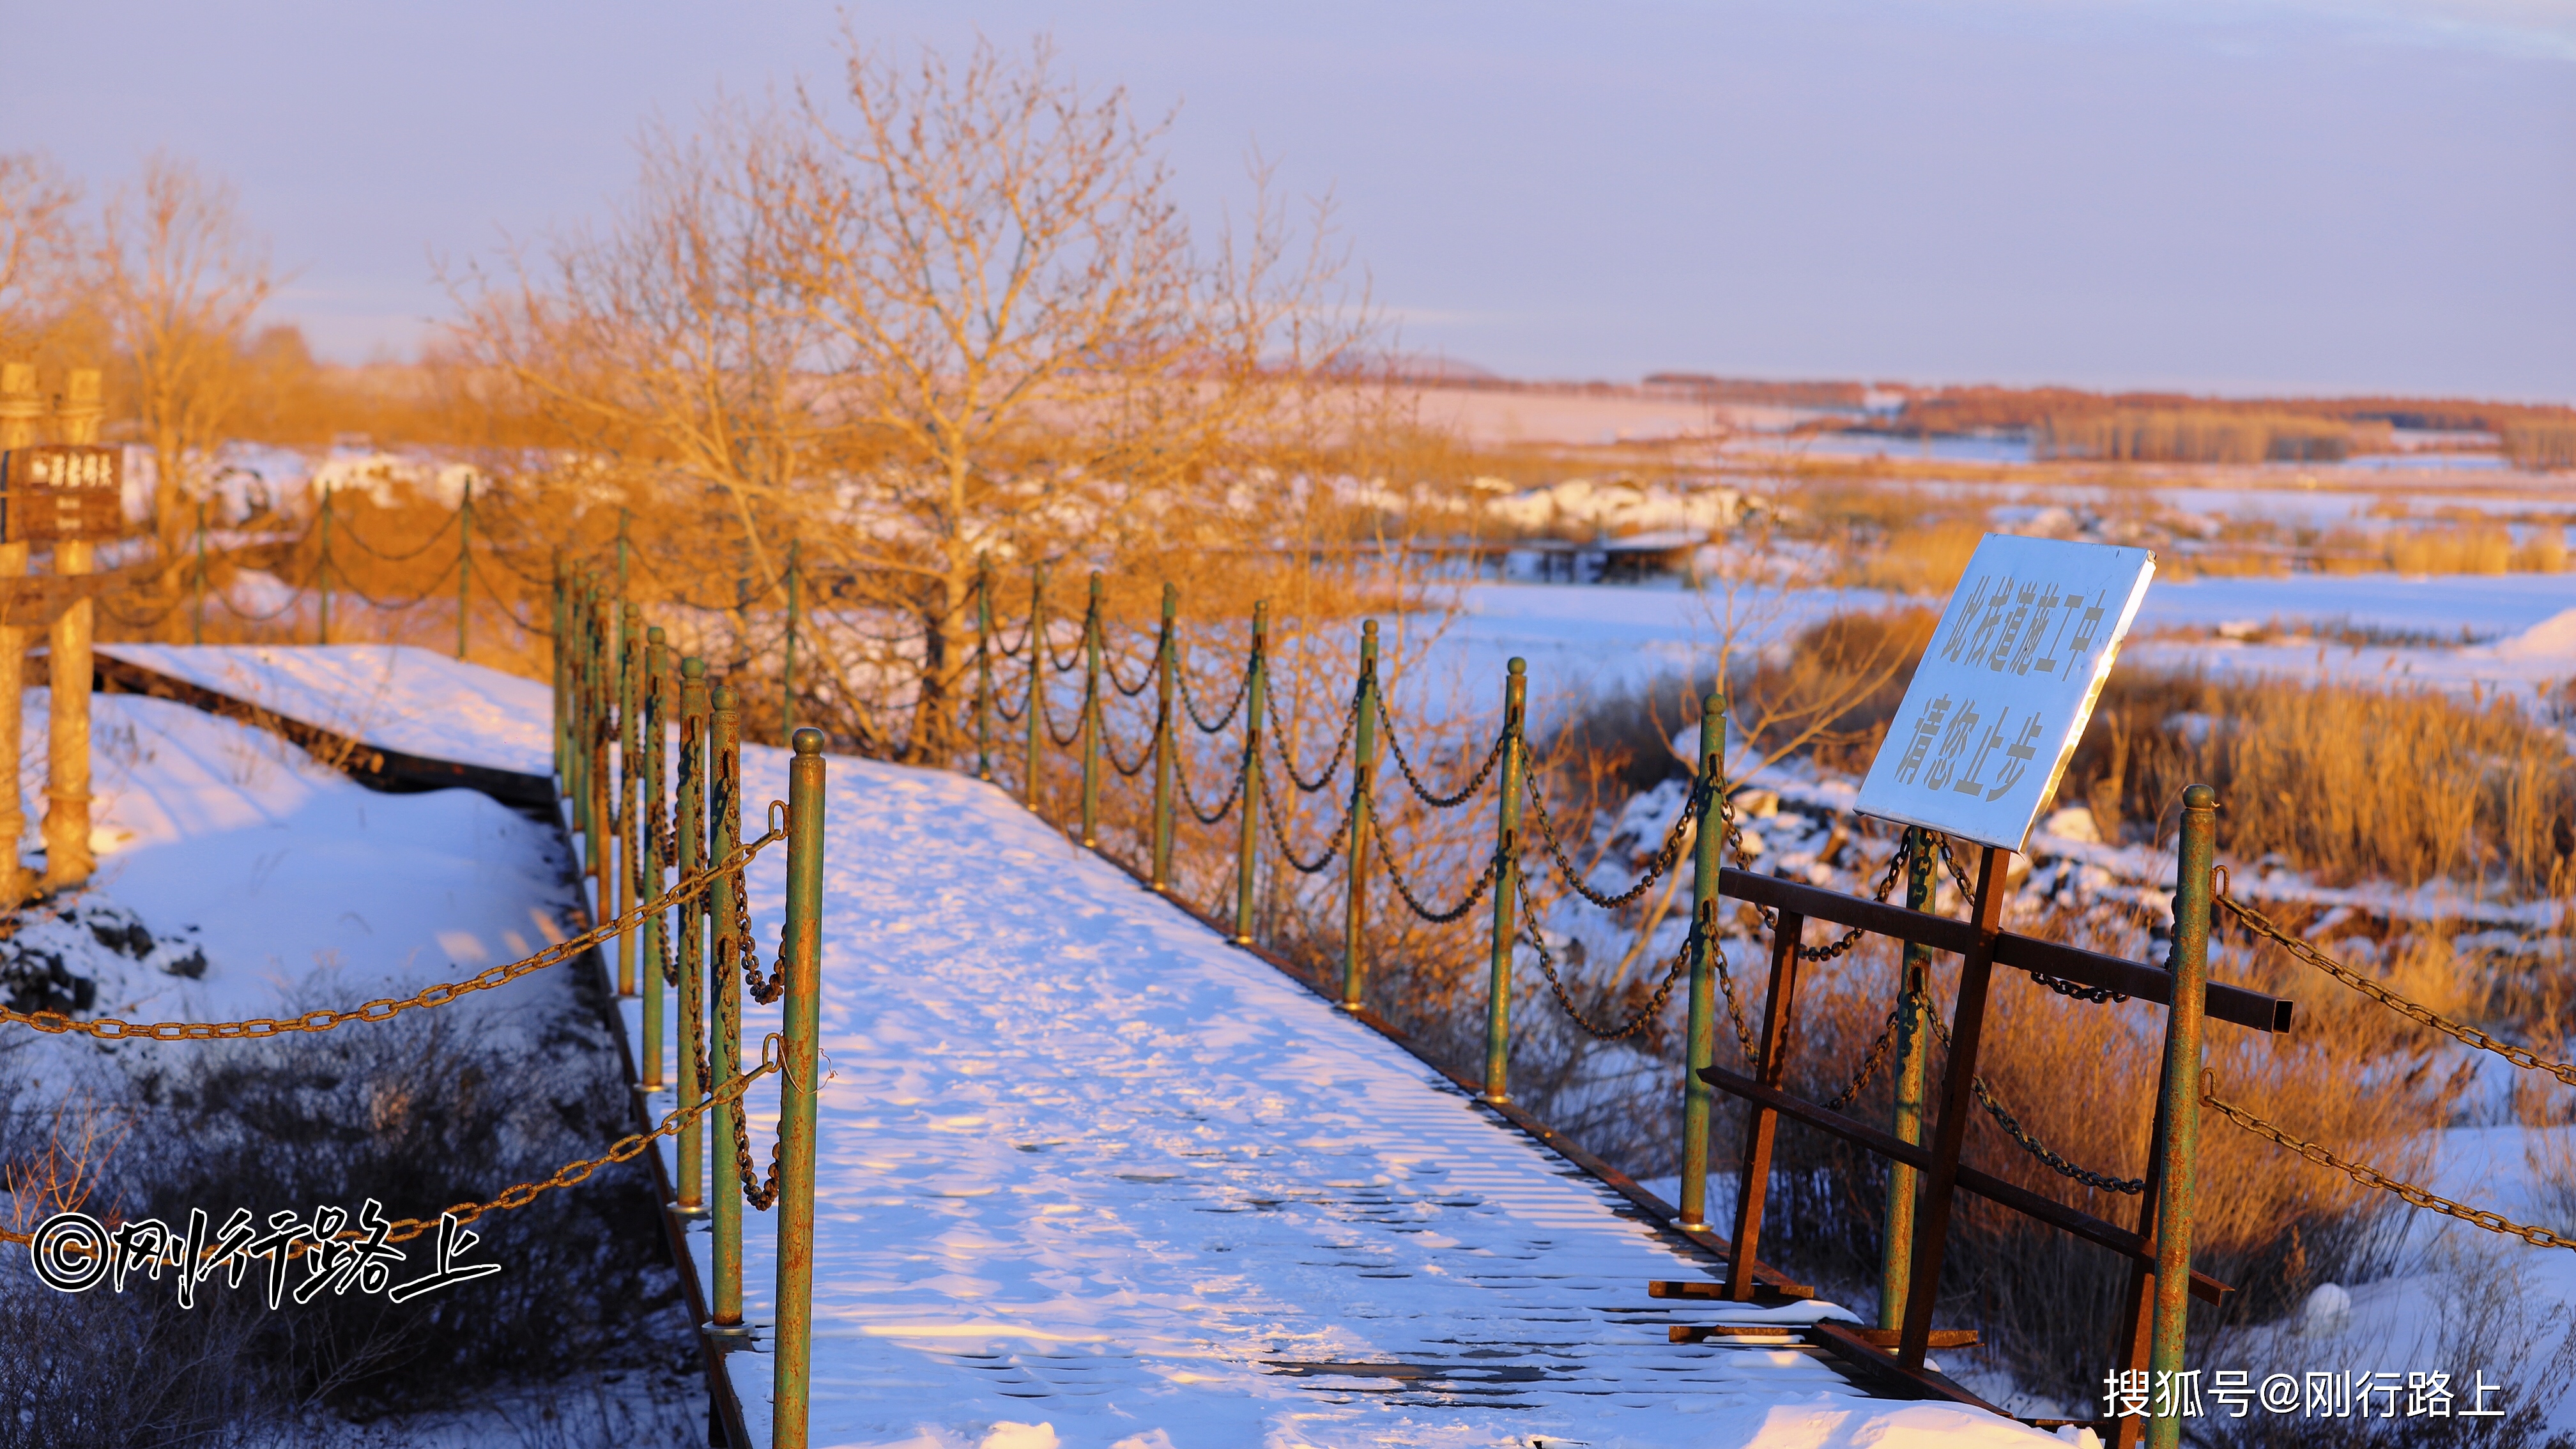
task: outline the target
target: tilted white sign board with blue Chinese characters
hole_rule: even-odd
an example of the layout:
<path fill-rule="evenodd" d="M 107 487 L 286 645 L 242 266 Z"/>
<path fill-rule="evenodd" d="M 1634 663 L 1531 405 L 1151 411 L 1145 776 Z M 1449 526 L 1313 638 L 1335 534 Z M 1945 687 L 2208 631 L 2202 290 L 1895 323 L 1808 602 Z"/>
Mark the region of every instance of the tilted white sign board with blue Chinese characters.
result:
<path fill-rule="evenodd" d="M 2084 737 L 2156 554 L 1986 534 L 1857 810 L 2020 851 Z"/>

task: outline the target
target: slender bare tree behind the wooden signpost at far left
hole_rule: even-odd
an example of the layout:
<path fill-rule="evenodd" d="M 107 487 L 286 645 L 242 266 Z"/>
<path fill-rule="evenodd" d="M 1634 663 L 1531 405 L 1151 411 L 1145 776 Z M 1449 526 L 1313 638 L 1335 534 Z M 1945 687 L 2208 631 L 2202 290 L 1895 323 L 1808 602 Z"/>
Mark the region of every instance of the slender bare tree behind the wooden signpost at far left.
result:
<path fill-rule="evenodd" d="M 185 500 L 247 394 L 242 338 L 281 278 L 232 186 L 173 155 L 144 160 L 108 201 L 90 263 L 157 469 L 155 534 L 175 567 L 196 523 Z"/>

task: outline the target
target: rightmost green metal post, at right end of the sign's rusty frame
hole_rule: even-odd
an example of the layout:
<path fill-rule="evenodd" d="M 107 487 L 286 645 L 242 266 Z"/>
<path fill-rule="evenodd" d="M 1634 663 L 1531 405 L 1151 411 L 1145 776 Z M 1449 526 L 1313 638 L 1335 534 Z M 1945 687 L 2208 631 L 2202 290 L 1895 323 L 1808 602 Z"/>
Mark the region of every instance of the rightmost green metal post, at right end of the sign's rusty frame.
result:
<path fill-rule="evenodd" d="M 2174 874 L 2174 1006 L 2164 1016 L 2164 1160 L 2156 1163 L 2156 1328 L 2148 1372 L 2179 1382 L 2182 1330 L 2192 1310 L 2192 1191 L 2200 1171 L 2200 1029 L 2210 982 L 2210 908 L 2218 859 L 2218 792 L 2182 792 Z M 2179 1395 L 2177 1395 L 2179 1397 Z M 2169 1405 L 2179 1408 L 2179 1405 Z M 2146 1426 L 2148 1449 L 2182 1444 L 2182 1415 Z"/>

